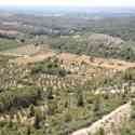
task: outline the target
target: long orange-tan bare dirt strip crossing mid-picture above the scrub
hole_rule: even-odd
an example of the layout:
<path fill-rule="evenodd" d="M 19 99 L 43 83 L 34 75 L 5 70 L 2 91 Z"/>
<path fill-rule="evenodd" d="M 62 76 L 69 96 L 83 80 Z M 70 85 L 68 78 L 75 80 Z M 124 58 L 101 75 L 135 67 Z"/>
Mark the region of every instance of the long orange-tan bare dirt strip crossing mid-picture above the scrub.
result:
<path fill-rule="evenodd" d="M 86 55 L 76 55 L 70 53 L 56 53 L 54 51 L 49 52 L 39 52 L 32 56 L 24 56 L 16 58 L 15 63 L 17 64 L 29 64 L 29 63 L 36 63 L 41 62 L 48 57 L 56 56 L 57 58 L 62 59 L 65 63 L 68 64 L 87 64 L 95 67 L 102 67 L 106 69 L 112 69 L 112 70 L 125 70 L 127 68 L 134 68 L 135 63 L 119 60 L 119 59 L 106 59 L 106 58 L 99 58 L 99 57 L 91 57 Z"/>

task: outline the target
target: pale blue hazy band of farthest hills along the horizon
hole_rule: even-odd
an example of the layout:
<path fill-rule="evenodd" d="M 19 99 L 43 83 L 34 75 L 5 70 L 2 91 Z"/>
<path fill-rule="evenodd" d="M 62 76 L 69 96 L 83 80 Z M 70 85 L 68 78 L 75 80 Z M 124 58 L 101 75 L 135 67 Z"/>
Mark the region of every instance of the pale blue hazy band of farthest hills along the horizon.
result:
<path fill-rule="evenodd" d="M 49 5 L 39 5 L 39 6 L 0 6 L 1 11 L 10 11 L 16 13 L 26 13 L 26 14 L 59 14 L 59 13 L 89 13 L 89 14 L 103 14 L 103 15 L 119 15 L 119 14 L 134 14 L 134 8 L 107 8 L 107 6 L 49 6 Z"/>

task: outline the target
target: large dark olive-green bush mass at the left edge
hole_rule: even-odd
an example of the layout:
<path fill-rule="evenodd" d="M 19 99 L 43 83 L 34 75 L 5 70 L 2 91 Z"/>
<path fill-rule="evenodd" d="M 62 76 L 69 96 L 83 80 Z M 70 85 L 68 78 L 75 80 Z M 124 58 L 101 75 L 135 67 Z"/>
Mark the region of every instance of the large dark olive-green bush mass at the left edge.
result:
<path fill-rule="evenodd" d="M 40 98 L 41 90 L 37 87 L 22 87 L 16 91 L 5 91 L 0 94 L 0 112 L 10 110 L 12 107 L 27 107 L 30 104 L 36 104 Z"/>

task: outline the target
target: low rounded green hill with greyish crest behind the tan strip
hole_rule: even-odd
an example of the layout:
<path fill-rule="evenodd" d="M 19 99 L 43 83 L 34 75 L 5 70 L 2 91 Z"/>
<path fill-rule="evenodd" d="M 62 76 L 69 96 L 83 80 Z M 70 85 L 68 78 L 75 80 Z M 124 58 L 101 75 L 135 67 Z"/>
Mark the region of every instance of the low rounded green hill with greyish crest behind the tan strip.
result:
<path fill-rule="evenodd" d="M 103 33 L 62 36 L 48 39 L 53 49 L 76 54 L 135 60 L 135 44 Z"/>

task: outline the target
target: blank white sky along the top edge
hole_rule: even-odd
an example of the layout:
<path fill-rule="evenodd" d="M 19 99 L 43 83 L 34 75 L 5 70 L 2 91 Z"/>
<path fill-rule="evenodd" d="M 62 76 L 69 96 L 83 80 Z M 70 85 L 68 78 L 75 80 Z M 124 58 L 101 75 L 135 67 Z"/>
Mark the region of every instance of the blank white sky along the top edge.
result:
<path fill-rule="evenodd" d="M 135 6 L 135 0 L 0 0 L 0 5 Z"/>

